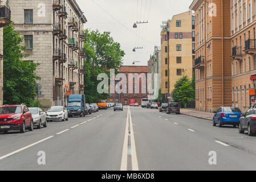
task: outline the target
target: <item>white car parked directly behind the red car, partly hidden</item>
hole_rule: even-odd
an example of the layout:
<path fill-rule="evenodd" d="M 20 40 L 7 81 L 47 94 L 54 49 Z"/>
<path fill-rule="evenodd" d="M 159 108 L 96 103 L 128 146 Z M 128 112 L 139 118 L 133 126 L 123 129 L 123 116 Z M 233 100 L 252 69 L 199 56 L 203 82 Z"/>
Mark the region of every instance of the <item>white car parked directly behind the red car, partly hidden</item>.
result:
<path fill-rule="evenodd" d="M 47 121 L 46 121 L 46 113 L 42 111 L 39 107 L 29 107 L 29 111 L 32 114 L 33 118 L 33 124 L 36 126 L 38 129 L 43 127 L 47 127 Z"/>

